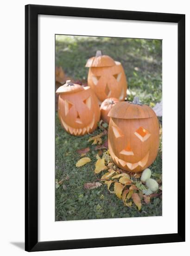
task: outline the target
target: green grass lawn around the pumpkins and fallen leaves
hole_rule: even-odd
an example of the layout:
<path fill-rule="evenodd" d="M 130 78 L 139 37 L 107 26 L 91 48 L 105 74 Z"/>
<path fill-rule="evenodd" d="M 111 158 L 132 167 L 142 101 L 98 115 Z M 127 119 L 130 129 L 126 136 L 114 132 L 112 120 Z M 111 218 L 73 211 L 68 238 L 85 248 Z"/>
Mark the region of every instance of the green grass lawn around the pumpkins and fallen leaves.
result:
<path fill-rule="evenodd" d="M 137 95 L 143 103 L 152 107 L 162 97 L 161 47 L 160 40 L 57 36 L 56 65 L 62 66 L 65 73 L 75 80 L 87 79 L 86 61 L 99 49 L 122 63 L 130 93 L 127 100 L 131 101 Z M 100 132 L 98 128 L 93 135 Z M 106 185 L 93 190 L 83 188 L 84 183 L 97 180 L 93 172 L 97 151 L 95 145 L 88 142 L 89 137 L 67 134 L 56 114 L 56 179 L 63 179 L 63 184 L 56 189 L 56 220 L 162 215 L 161 197 L 152 198 L 148 205 L 143 203 L 138 211 L 135 205 L 125 207 L 121 200 L 108 192 Z M 75 164 L 81 158 L 76 150 L 86 147 L 90 151 L 85 156 L 92 161 L 76 168 Z M 162 173 L 161 142 L 158 156 L 150 168 L 153 178 L 157 179 Z"/>

